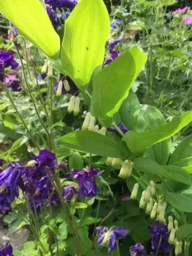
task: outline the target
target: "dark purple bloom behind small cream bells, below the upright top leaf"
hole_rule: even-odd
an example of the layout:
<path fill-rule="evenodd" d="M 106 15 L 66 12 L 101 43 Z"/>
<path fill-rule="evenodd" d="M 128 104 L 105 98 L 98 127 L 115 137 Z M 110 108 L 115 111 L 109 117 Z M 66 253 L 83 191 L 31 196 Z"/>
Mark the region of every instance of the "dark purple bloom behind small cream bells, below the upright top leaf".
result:
<path fill-rule="evenodd" d="M 65 80 L 68 82 L 69 89 L 65 85 Z M 73 80 L 69 76 L 63 76 L 62 74 L 60 74 L 60 81 L 63 82 L 62 83 L 61 94 L 69 93 L 71 95 L 78 95 L 79 89 L 77 88 L 77 86 L 75 85 L 75 83 L 73 82 Z M 59 87 L 59 82 L 54 85 L 54 89 L 58 90 L 58 87 Z"/>

